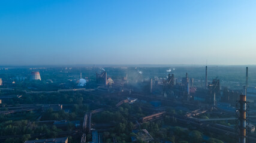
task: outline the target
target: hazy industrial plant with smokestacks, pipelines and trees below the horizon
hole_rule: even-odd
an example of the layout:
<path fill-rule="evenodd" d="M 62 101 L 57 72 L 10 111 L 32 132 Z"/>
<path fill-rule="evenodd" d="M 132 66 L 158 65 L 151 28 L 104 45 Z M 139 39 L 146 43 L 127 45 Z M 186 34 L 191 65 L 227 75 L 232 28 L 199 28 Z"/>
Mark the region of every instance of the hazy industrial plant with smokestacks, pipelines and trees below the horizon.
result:
<path fill-rule="evenodd" d="M 235 85 L 240 89 L 211 76 L 214 67 L 200 67 L 203 76 L 177 71 L 182 68 L 31 69 L 37 71 L 19 74 L 22 80 L 15 70 L 1 71 L 0 141 L 256 142 L 256 90 L 248 67 L 245 84 Z M 4 77 L 8 72 L 13 78 Z M 7 122 L 19 114 L 31 118 Z M 16 122 L 35 131 L 7 133 L 5 125 L 21 128 Z"/>

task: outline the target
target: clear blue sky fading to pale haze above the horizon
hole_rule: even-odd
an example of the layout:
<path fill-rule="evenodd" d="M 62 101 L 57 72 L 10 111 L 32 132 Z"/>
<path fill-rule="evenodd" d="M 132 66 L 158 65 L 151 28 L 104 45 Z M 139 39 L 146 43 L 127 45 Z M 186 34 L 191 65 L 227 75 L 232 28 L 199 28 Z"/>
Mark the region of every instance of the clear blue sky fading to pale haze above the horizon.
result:
<path fill-rule="evenodd" d="M 0 1 L 0 65 L 256 64 L 256 1 Z"/>

